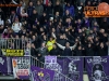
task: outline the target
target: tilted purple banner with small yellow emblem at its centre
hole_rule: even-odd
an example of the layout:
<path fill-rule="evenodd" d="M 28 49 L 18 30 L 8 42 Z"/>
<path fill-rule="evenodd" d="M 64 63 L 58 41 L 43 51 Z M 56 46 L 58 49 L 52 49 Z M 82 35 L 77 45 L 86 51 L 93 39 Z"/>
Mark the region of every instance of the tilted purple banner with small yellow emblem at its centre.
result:
<path fill-rule="evenodd" d="M 32 66 L 32 81 L 53 81 L 55 71 Z"/>

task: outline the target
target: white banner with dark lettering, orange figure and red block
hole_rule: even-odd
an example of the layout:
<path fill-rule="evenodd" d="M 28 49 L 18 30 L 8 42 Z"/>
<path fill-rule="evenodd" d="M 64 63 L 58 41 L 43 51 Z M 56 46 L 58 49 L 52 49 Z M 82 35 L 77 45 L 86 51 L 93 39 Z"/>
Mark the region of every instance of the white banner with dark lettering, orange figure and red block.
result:
<path fill-rule="evenodd" d="M 12 58 L 14 78 L 29 79 L 31 62 L 28 56 Z"/>

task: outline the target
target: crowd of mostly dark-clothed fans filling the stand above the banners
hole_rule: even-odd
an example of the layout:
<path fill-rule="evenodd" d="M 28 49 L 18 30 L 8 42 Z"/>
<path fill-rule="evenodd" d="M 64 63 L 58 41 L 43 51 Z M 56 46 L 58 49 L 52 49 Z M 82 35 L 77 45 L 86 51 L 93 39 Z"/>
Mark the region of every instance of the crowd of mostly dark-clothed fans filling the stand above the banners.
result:
<path fill-rule="evenodd" d="M 20 0 L 22 6 L 7 15 L 1 8 L 1 39 L 31 39 L 32 43 L 27 48 L 31 48 L 33 56 L 40 59 L 45 55 L 108 55 L 108 18 L 84 16 L 84 6 L 98 5 L 98 0 L 84 3 L 76 0 L 47 1 L 32 0 L 27 5 Z"/>

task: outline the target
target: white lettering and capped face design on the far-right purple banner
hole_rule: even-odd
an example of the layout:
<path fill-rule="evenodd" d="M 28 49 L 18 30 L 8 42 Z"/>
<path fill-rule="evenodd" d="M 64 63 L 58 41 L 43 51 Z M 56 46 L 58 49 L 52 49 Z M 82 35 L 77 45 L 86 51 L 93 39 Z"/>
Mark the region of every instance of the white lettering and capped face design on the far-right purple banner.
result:
<path fill-rule="evenodd" d="M 109 76 L 106 76 L 104 66 L 101 65 L 101 63 L 107 63 L 107 58 L 94 57 L 88 59 L 87 63 L 93 63 L 93 73 L 90 78 L 93 81 L 104 81 L 109 79 Z"/>

